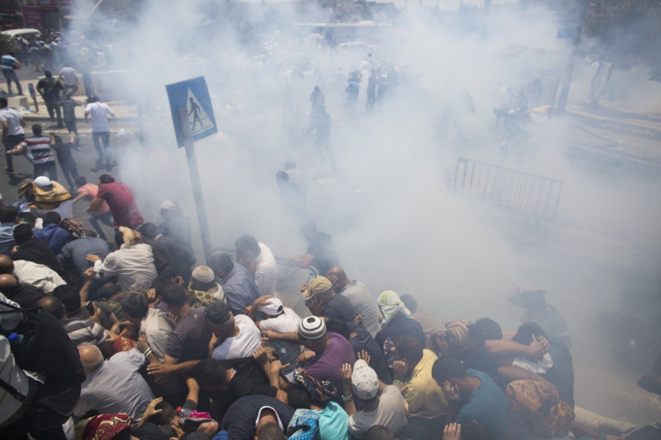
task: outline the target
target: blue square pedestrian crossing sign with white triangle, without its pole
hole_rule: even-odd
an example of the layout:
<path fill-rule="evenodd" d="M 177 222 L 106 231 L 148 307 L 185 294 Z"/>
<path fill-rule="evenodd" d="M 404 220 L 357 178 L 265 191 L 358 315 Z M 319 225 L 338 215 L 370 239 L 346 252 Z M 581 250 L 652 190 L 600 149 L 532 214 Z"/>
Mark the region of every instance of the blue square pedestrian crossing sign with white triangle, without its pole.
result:
<path fill-rule="evenodd" d="M 211 98 L 204 76 L 165 86 L 170 100 L 172 123 L 177 136 L 177 145 L 184 146 L 184 128 L 181 127 L 179 109 L 185 108 L 193 141 L 198 141 L 218 132 Z"/>

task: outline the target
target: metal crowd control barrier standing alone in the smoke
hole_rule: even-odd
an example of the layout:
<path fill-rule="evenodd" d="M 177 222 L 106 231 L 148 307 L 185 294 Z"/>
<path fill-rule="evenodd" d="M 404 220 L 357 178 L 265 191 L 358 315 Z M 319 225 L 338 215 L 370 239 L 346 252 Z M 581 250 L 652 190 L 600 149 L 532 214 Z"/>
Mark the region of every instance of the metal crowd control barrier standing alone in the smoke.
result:
<path fill-rule="evenodd" d="M 459 157 L 454 191 L 538 218 L 558 211 L 562 181 Z"/>

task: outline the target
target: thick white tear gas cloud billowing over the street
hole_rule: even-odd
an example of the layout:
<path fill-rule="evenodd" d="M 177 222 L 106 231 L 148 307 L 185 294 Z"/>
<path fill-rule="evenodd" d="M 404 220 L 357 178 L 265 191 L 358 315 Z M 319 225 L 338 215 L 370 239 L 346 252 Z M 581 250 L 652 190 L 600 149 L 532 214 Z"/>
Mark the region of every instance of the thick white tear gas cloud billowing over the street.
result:
<path fill-rule="evenodd" d="M 215 246 L 232 247 L 235 238 L 251 233 L 278 258 L 304 250 L 274 178 L 294 158 L 309 179 L 313 220 L 334 237 L 349 277 L 366 282 L 373 294 L 394 289 L 416 296 L 439 321 L 489 315 L 515 330 L 519 311 L 506 301 L 509 288 L 545 288 L 580 348 L 575 364 L 592 368 L 594 356 L 612 366 L 611 355 L 596 353 L 608 342 L 597 334 L 603 318 L 596 304 L 619 307 L 622 292 L 634 284 L 630 269 L 639 264 L 645 270 L 635 273 L 658 293 L 658 175 L 650 183 L 635 173 L 586 172 L 568 159 L 570 137 L 577 133 L 568 118 L 534 123 L 518 139 L 502 126 L 494 129 L 498 90 L 518 93 L 537 75 L 552 95 L 549 78 L 558 77 L 569 54 L 568 41 L 556 39 L 552 13 L 517 5 L 486 14 L 471 8 L 445 13 L 445 4 L 439 10 L 411 6 L 396 24 L 383 22 L 367 36 L 366 49 L 339 50 L 296 25 L 309 16 L 324 21 L 310 4 L 305 17 L 285 3 L 233 4 L 216 16 L 204 1 L 148 4 L 135 26 L 111 41 L 121 64 L 131 69 L 115 89 L 146 109 L 146 148 L 128 148 L 120 180 L 135 190 L 147 221 L 164 199 L 179 200 L 195 217 L 164 85 L 204 75 L 223 132 L 196 144 Z M 373 66 L 391 69 L 399 81 L 377 112 L 366 113 Z M 344 109 L 345 87 L 356 70 L 363 80 L 351 115 Z M 591 70 L 579 66 L 576 75 L 571 97 L 584 99 L 578 97 L 586 96 Z M 313 136 L 304 136 L 315 85 L 325 93 L 332 118 L 337 179 L 329 179 Z M 658 85 L 639 83 L 629 90 L 636 98 L 659 96 Z M 648 93 L 639 92 L 643 86 Z M 552 103 L 542 98 L 535 105 Z M 650 109 L 649 100 L 645 105 Z M 503 142 L 507 156 L 499 154 Z M 533 222 L 459 197 L 448 184 L 457 156 L 563 180 L 555 220 Z M 661 316 L 658 295 L 653 301 L 648 317 Z M 628 349 L 630 339 L 623 338 Z M 661 348 L 658 340 L 647 344 L 640 365 L 613 367 L 630 383 Z M 588 375 L 577 366 L 577 401 L 620 415 L 598 403 L 608 400 L 604 389 L 581 388 L 579 379 Z"/>

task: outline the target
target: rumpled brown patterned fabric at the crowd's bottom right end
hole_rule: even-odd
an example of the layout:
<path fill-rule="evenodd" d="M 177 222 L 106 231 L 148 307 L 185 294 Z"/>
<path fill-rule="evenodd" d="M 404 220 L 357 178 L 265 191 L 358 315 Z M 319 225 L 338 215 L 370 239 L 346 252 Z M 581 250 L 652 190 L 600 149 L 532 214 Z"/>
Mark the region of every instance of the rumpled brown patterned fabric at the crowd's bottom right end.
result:
<path fill-rule="evenodd" d="M 567 436 L 574 420 L 574 409 L 568 403 L 551 397 L 545 383 L 524 379 L 507 384 L 507 402 L 513 418 L 530 434 L 553 438 Z"/>

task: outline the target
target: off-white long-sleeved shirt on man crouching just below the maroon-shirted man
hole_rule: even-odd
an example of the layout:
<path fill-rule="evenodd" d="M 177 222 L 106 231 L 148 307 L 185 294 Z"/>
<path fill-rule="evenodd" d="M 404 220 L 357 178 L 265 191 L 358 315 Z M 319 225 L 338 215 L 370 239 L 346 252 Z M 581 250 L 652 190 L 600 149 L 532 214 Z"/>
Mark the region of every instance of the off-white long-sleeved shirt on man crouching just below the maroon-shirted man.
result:
<path fill-rule="evenodd" d="M 119 286 L 124 292 L 130 289 L 148 289 L 158 276 L 152 247 L 145 243 L 133 246 L 122 244 L 119 250 L 110 252 L 102 262 L 94 261 L 94 272 L 99 278 L 117 275 Z"/>

